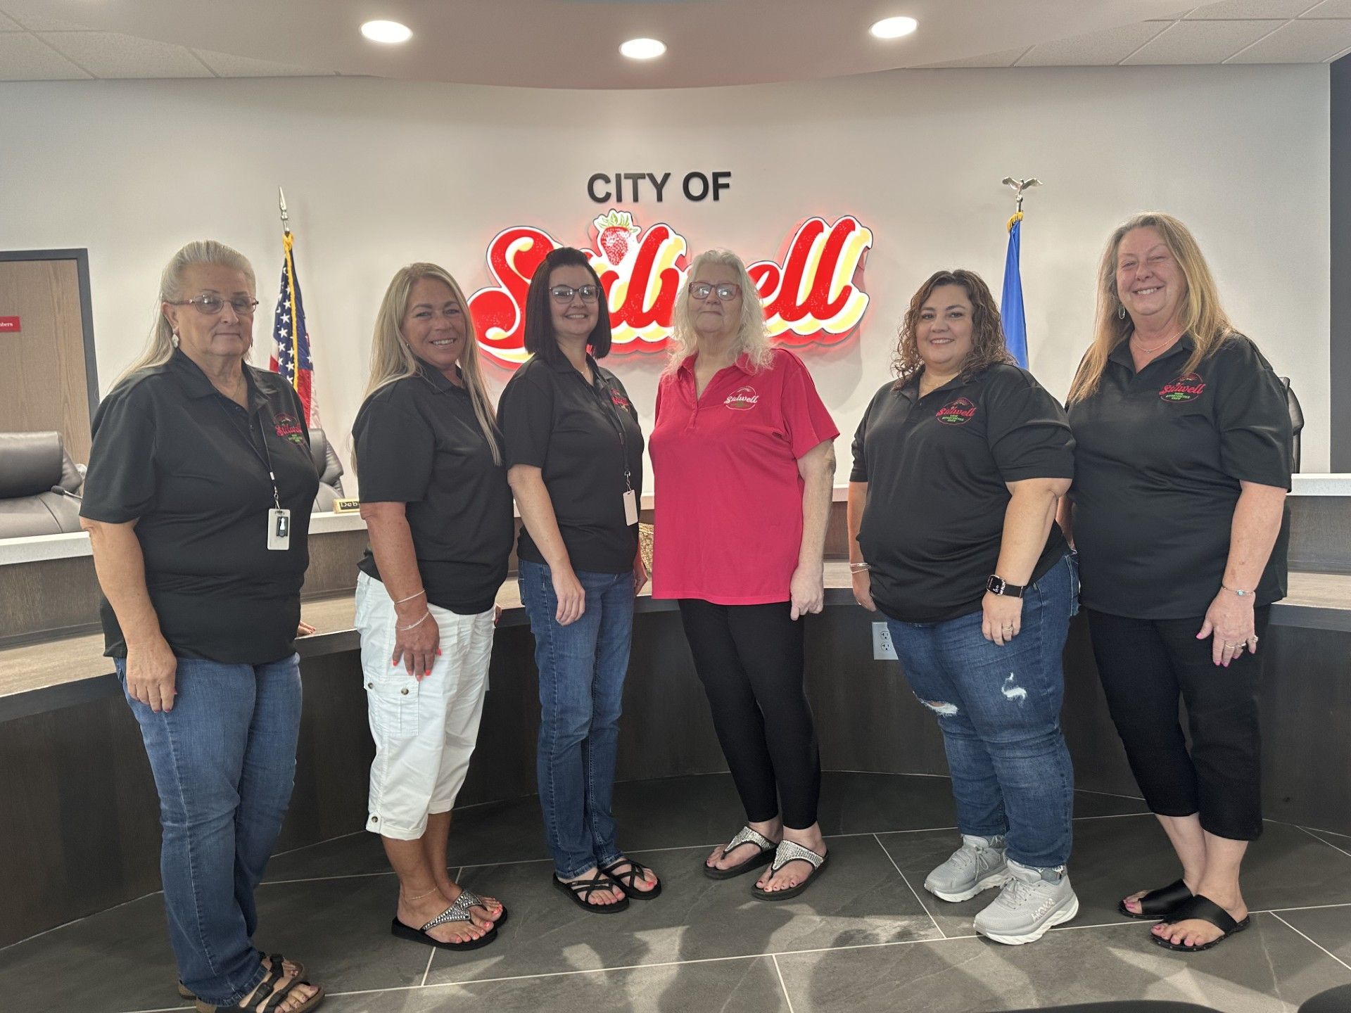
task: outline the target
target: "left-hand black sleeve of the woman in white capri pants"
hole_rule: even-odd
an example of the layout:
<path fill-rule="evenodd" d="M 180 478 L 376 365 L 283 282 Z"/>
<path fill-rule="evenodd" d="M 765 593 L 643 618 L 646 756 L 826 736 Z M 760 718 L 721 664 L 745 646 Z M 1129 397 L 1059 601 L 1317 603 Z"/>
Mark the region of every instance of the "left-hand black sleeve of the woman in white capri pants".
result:
<path fill-rule="evenodd" d="M 377 390 L 369 397 L 351 436 L 362 502 L 419 502 L 426 497 L 436 438 L 399 390 Z"/>

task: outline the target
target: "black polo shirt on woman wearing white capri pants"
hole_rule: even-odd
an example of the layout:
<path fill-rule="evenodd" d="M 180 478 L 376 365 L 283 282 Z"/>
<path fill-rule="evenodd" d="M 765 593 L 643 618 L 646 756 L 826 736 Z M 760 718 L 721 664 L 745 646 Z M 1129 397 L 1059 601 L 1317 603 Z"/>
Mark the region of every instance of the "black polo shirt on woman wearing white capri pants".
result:
<path fill-rule="evenodd" d="M 405 504 L 427 601 L 473 616 L 493 606 L 507 579 L 515 532 L 507 469 L 493 462 L 469 392 L 417 365 L 357 412 L 361 500 Z M 380 579 L 369 547 L 359 566 Z"/>

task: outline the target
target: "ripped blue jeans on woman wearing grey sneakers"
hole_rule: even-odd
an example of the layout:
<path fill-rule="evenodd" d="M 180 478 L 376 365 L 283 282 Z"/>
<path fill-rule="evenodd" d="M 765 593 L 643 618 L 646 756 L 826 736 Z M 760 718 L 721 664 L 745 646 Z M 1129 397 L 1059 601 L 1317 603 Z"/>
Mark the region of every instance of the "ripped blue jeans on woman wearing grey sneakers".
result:
<path fill-rule="evenodd" d="M 938 715 L 962 833 L 1008 835 L 1008 856 L 1055 868 L 1070 858 L 1074 767 L 1061 733 L 1061 654 L 1078 611 L 1066 555 L 1023 596 L 1023 628 L 1004 647 L 982 612 L 946 623 L 888 621 L 915 696 Z"/>

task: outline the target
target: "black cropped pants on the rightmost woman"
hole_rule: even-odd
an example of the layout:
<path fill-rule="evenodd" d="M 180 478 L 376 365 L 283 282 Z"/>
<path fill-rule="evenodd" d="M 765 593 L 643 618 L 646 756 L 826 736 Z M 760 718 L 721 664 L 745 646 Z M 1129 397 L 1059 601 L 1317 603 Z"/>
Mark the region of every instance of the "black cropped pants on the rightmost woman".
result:
<path fill-rule="evenodd" d="M 1262 652 L 1244 651 L 1225 669 L 1210 658 L 1213 639 L 1196 639 L 1201 617 L 1147 620 L 1085 612 L 1106 705 L 1150 809 L 1161 816 L 1198 813 L 1201 828 L 1217 837 L 1256 840 L 1262 833 Z M 1256 611 L 1259 638 L 1270 615 L 1270 605 Z M 1190 754 L 1178 724 L 1179 693 L 1186 701 Z"/>

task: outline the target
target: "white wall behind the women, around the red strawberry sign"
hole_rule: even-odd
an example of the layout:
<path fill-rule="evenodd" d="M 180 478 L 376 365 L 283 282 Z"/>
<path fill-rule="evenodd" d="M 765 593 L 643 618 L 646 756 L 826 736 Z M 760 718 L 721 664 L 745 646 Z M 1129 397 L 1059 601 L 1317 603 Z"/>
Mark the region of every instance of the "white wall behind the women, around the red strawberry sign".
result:
<path fill-rule="evenodd" d="M 358 78 L 0 85 L 0 249 L 88 247 L 104 390 L 141 347 L 158 273 L 218 238 L 259 276 L 270 338 L 286 189 L 324 427 L 349 450 L 390 273 L 489 281 L 503 227 L 586 240 L 593 172 L 734 173 L 723 201 L 631 207 L 692 251 L 773 258 L 798 219 L 874 232 L 861 332 L 804 355 L 848 436 L 888 378 L 896 324 L 940 266 L 998 292 L 1005 174 L 1039 176 L 1023 232 L 1032 369 L 1063 396 L 1089 339 L 1111 228 L 1144 208 L 1197 232 L 1235 321 L 1293 377 L 1305 470 L 1328 466 L 1328 69 L 1084 68 L 897 72 L 678 92 L 535 92 Z M 612 357 L 644 428 L 661 362 Z M 504 370 L 492 370 L 494 388 Z"/>

